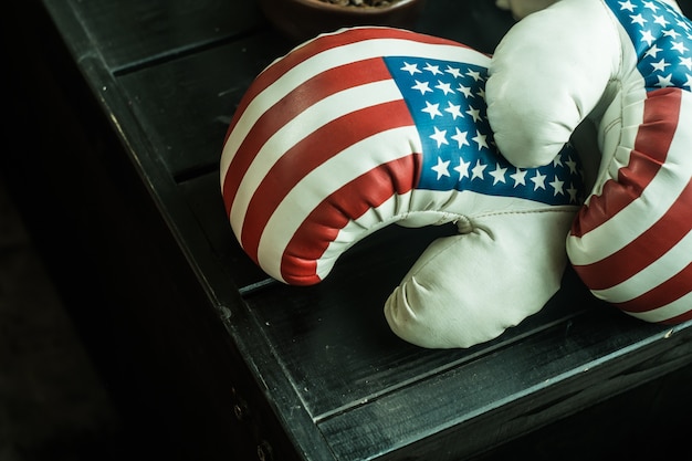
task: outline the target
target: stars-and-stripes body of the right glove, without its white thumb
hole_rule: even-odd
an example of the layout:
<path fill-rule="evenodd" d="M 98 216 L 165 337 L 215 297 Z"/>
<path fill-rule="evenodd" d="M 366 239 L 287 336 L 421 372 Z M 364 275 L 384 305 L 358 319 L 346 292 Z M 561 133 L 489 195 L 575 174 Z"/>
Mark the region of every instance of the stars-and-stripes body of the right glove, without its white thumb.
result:
<path fill-rule="evenodd" d="M 692 318 L 692 23 L 669 2 L 604 1 L 636 63 L 615 102 L 609 178 L 578 213 L 567 251 L 596 296 L 675 324 Z"/>

